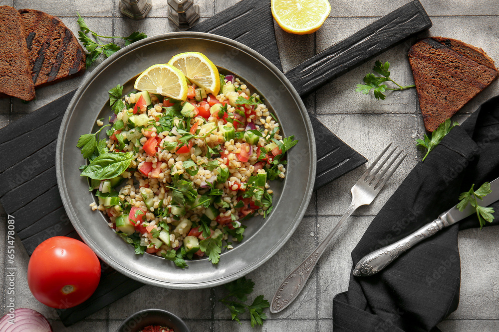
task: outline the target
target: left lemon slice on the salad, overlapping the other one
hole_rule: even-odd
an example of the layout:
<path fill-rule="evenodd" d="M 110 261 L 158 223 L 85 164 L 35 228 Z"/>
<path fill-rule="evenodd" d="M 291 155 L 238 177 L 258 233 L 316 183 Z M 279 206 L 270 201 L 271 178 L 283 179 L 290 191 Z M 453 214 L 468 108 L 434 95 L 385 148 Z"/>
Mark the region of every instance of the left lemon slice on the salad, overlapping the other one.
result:
<path fill-rule="evenodd" d="M 147 68 L 135 80 L 134 89 L 152 94 L 187 99 L 187 81 L 180 70 L 170 65 L 153 65 Z"/>

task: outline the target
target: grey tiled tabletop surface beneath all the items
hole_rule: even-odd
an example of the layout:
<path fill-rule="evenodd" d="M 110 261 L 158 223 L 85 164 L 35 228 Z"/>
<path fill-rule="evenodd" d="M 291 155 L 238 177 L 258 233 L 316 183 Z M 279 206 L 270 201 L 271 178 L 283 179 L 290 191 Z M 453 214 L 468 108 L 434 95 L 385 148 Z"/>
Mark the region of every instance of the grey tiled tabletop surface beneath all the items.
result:
<path fill-rule="evenodd" d="M 200 5 L 201 20 L 211 17 L 235 2 L 237 0 L 196 0 Z M 274 22 L 284 72 L 406 2 L 408 0 L 394 0 L 379 5 L 379 1 L 375 0 L 331 1 L 330 17 L 316 33 L 311 35 L 289 34 L 282 31 Z M 401 169 L 394 174 L 376 201 L 371 206 L 359 208 L 343 225 L 336 235 L 335 245 L 324 253 L 312 272 L 305 290 L 288 309 L 275 315 L 267 310 L 268 320 L 264 326 L 253 330 L 250 328 L 248 315 L 244 316 L 243 325 L 230 320 L 229 311 L 218 301 L 226 294 L 223 287 L 179 291 L 146 286 L 93 314 L 83 322 L 64 328 L 55 310 L 37 302 L 29 292 L 26 282 L 28 256 L 18 238 L 15 241 L 14 263 L 16 308 L 28 307 L 39 311 L 51 320 L 55 332 L 114 332 L 122 320 L 132 313 L 152 307 L 177 314 L 185 319 L 193 332 L 331 331 L 332 298 L 348 287 L 352 265 L 351 250 L 383 204 L 423 156 L 414 142 L 415 138 L 422 138 L 424 134 L 415 90 L 392 92 L 385 101 L 378 101 L 372 95 L 364 96 L 356 93 L 356 84 L 361 83 L 364 75 L 371 71 L 376 59 L 391 63 L 391 76 L 395 81 L 404 85 L 412 84 L 407 51 L 417 38 L 428 35 L 461 39 L 482 47 L 493 59 L 499 61 L 497 1 L 421 0 L 421 2 L 432 16 L 433 27 L 430 31 L 410 38 L 375 59 L 352 69 L 304 101 L 308 111 L 317 113 L 318 118 L 329 129 L 369 160 L 373 160 L 389 141 L 399 144 L 409 154 Z M 0 5 L 14 5 L 18 9 L 28 7 L 62 16 L 61 19 L 74 33 L 79 29 L 74 17 L 76 11 L 85 17 L 90 28 L 105 35 L 128 35 L 137 30 L 153 36 L 177 31 L 166 18 L 167 0 L 153 0 L 153 8 L 148 18 L 140 21 L 122 17 L 117 3 L 118 0 L 102 0 L 98 4 L 83 0 L 61 0 L 54 5 L 53 2 L 43 0 L 15 0 L 15 2 L 0 0 Z M 0 100 L 0 127 L 78 88 L 82 80 L 95 68 L 95 65 L 92 66 L 83 77 L 38 89 L 34 102 L 23 104 L 19 100 L 13 100 L 12 111 L 9 99 Z M 498 82 L 494 82 L 472 100 L 453 119 L 464 121 L 480 104 L 498 95 Z M 277 285 L 339 220 L 339 216 L 350 203 L 350 188 L 366 167 L 367 165 L 359 167 L 313 194 L 306 210 L 306 217 L 290 240 L 275 256 L 247 276 L 255 282 L 254 293 L 250 299 L 264 294 L 265 298 L 270 300 Z M 5 227 L 0 227 L 0 237 L 4 236 Z M 498 236 L 497 227 L 460 232 L 462 269 L 460 305 L 448 320 L 439 325 L 442 331 L 499 330 Z M 2 259 L 3 255 L 0 255 L 0 266 L 6 264 Z M 5 280 L 0 280 L 0 283 L 5 290 L 7 285 Z M 4 308 L 1 308 L 0 314 L 3 312 Z"/>

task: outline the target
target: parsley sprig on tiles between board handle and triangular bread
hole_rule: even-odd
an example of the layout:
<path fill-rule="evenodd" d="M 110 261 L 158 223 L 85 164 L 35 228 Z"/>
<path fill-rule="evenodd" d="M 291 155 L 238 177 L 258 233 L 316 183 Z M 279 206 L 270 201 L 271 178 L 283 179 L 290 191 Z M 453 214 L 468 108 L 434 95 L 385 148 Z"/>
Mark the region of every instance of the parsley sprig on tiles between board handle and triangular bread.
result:
<path fill-rule="evenodd" d="M 369 91 L 374 90 L 374 97 L 376 99 L 385 100 L 386 95 L 384 95 L 383 93 L 386 90 L 400 91 L 416 87 L 415 85 L 407 85 L 403 87 L 394 80 L 392 80 L 390 78 L 390 72 L 388 71 L 389 68 L 390 68 L 390 63 L 388 61 L 382 64 L 381 61 L 376 60 L 373 70 L 382 77 L 374 76 L 374 73 L 367 74 L 364 77 L 365 84 L 357 84 L 357 89 L 355 89 L 355 91 L 361 92 L 364 95 L 368 95 Z M 389 88 L 386 84 L 383 84 L 387 81 L 392 82 L 393 84 L 398 86 L 398 88 Z"/>

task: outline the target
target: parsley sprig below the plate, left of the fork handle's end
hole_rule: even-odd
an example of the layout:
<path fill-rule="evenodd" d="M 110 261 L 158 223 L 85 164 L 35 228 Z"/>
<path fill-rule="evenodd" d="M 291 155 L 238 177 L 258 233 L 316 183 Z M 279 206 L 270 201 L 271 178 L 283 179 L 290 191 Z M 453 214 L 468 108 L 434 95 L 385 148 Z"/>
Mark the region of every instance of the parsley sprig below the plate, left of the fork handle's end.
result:
<path fill-rule="evenodd" d="M 250 305 L 245 304 L 248 301 L 248 295 L 253 292 L 254 282 L 251 279 L 242 277 L 225 284 L 224 287 L 229 291 L 229 295 L 219 301 L 229 308 L 233 320 L 242 324 L 239 315 L 245 313 L 246 309 L 248 309 L 251 327 L 263 325 L 263 321 L 267 319 L 267 316 L 263 314 L 263 309 L 270 307 L 263 295 L 257 296 Z M 231 297 L 236 298 L 238 301 L 229 300 Z"/>

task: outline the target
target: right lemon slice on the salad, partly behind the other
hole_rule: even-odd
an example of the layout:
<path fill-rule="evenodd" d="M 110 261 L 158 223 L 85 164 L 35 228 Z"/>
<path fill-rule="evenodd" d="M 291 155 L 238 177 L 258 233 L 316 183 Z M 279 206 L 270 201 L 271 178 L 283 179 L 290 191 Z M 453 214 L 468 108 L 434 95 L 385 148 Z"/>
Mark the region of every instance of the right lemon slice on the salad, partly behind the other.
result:
<path fill-rule="evenodd" d="M 182 71 L 197 86 L 203 87 L 215 96 L 220 91 L 220 76 L 217 67 L 204 54 L 186 52 L 175 55 L 169 62 Z"/>

